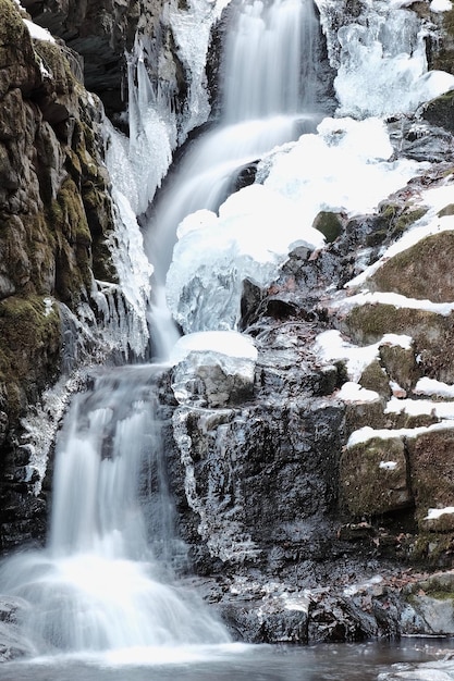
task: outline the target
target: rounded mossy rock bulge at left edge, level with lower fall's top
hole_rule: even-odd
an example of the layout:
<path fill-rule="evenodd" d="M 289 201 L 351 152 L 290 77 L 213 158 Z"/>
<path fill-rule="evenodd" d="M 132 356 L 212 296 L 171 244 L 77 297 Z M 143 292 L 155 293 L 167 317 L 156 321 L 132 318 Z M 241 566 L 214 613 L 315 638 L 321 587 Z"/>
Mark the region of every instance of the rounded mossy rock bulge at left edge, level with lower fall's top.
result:
<path fill-rule="evenodd" d="M 61 348 L 61 320 L 57 306 L 45 299 L 11 296 L 0 301 L 0 381 L 10 420 L 57 375 Z"/>

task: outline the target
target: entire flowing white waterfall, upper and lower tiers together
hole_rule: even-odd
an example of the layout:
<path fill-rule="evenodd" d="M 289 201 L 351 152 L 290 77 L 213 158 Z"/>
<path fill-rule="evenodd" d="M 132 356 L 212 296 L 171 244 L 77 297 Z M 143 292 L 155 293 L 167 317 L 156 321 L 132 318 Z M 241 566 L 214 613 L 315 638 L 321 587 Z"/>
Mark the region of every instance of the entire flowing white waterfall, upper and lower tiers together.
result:
<path fill-rule="evenodd" d="M 244 0 L 232 24 L 219 129 L 189 149 L 170 200 L 164 195 L 154 215 L 158 240 L 150 259 L 161 301 L 181 219 L 217 207 L 238 168 L 314 127 L 318 27 L 311 0 Z M 121 189 L 131 194 L 127 183 Z M 154 325 L 169 336 L 169 315 L 159 320 L 157 312 Z M 1 570 L 4 593 L 27 604 L 20 619 L 35 653 L 230 640 L 194 594 L 172 583 L 172 564 L 184 559 L 184 548 L 174 536 L 165 480 L 157 371 L 126 367 L 100 374 L 73 400 L 57 447 L 48 546 Z"/>

